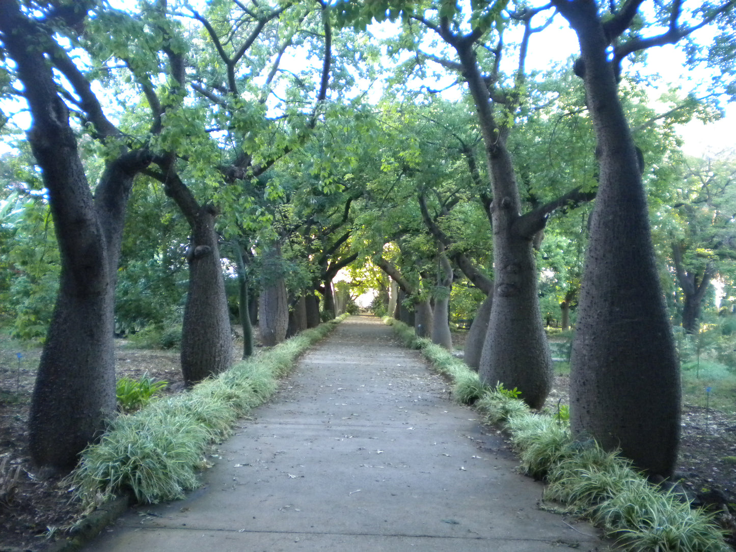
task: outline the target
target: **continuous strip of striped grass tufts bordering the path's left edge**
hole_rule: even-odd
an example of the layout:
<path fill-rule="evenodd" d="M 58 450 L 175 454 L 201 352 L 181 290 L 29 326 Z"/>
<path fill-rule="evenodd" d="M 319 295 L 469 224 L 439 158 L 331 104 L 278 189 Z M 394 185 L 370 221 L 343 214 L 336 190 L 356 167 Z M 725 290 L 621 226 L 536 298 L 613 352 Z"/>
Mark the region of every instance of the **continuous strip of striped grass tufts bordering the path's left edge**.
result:
<path fill-rule="evenodd" d="M 135 414 L 111 420 L 69 476 L 74 495 L 91 509 L 120 493 L 132 494 L 139 503 L 156 503 L 197 488 L 208 446 L 227 437 L 238 417 L 263 403 L 296 358 L 342 319 L 302 332 L 189 392 L 152 400 Z"/>

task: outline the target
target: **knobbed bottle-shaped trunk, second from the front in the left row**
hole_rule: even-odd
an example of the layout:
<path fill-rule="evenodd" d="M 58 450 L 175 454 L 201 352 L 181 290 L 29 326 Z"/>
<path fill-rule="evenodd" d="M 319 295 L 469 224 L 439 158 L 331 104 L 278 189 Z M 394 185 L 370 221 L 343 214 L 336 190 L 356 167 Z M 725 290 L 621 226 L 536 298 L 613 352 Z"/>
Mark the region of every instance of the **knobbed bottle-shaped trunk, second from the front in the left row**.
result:
<path fill-rule="evenodd" d="M 189 287 L 184 307 L 181 361 L 188 386 L 224 372 L 230 367 L 233 356 L 215 216 L 210 206 L 199 208 L 186 255 Z"/>

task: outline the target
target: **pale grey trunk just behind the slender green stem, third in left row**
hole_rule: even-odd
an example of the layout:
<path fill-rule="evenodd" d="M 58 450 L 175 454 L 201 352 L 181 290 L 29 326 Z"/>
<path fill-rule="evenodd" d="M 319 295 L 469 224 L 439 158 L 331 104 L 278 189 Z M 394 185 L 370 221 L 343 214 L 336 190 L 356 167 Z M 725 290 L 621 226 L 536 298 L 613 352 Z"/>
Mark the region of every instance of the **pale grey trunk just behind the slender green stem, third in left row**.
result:
<path fill-rule="evenodd" d="M 281 248 L 278 244 L 263 253 L 261 302 L 261 341 L 267 347 L 283 342 L 289 326 L 289 297 L 283 279 Z"/>

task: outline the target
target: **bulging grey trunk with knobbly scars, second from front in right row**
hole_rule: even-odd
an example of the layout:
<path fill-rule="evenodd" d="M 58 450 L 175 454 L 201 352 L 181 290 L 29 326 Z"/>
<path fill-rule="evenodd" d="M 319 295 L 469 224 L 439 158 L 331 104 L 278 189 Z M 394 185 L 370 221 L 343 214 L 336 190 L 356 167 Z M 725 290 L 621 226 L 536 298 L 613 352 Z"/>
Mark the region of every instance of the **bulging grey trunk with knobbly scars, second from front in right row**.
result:
<path fill-rule="evenodd" d="M 473 43 L 451 35 L 449 27 L 443 27 L 442 33 L 455 47 L 473 95 L 494 198 L 495 289 L 481 353 L 481 380 L 490 385 L 500 382 L 507 388 L 517 387 L 531 408 L 541 408 L 552 386 L 552 358 L 539 311 L 532 239 L 544 227 L 546 217 L 536 212 L 520 215 L 519 191 L 506 146 L 509 130 L 495 122 Z"/>

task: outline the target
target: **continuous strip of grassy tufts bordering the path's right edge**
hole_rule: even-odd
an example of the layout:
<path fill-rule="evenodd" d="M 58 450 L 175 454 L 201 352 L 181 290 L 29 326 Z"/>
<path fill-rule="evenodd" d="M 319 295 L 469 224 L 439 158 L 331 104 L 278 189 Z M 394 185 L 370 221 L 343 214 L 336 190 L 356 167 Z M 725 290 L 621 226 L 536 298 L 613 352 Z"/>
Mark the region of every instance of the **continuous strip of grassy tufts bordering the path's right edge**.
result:
<path fill-rule="evenodd" d="M 506 431 L 520 470 L 547 484 L 543 507 L 591 520 L 626 550 L 732 550 L 715 515 L 693 509 L 676 486 L 651 484 L 617 452 L 603 450 L 593 439 L 573 439 L 567 406 L 532 411 L 516 390 L 481 383 L 477 372 L 430 340 L 417 338 L 413 328 L 388 317 L 384 322 L 450 379 L 456 401 L 472 405 L 486 422 Z"/>

